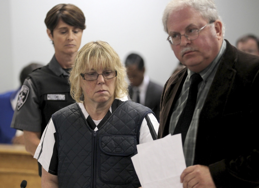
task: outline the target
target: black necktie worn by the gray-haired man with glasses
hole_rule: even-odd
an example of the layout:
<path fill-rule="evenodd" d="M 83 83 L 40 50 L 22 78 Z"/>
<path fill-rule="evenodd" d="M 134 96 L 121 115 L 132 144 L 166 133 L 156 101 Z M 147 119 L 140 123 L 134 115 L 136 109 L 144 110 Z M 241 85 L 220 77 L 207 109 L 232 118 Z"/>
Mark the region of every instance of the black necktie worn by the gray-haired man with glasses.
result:
<path fill-rule="evenodd" d="M 200 74 L 195 73 L 191 76 L 187 102 L 175 126 L 174 134 L 182 133 L 183 144 L 192 121 L 192 116 L 197 100 L 198 84 L 201 81 L 202 77 L 200 76 Z"/>

